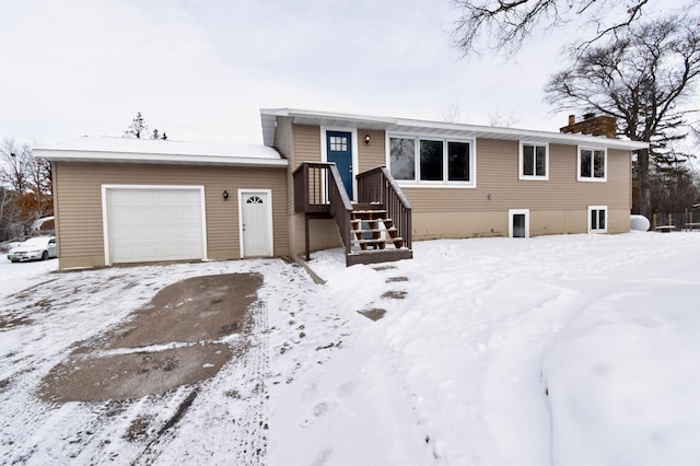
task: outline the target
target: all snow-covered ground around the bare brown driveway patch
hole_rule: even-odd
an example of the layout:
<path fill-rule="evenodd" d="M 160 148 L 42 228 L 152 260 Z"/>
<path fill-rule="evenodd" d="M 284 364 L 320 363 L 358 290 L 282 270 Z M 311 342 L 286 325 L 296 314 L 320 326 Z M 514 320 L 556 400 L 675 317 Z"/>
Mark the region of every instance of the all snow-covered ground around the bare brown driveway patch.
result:
<path fill-rule="evenodd" d="M 19 323 L 0 328 L 2 463 L 698 463 L 700 234 L 431 241 L 393 268 L 346 268 L 338 249 L 311 265 L 326 284 L 276 259 L 36 266 L 28 292 L 5 284 L 23 265 L 0 266 L 0 318 Z M 37 399 L 74 343 L 165 286 L 241 271 L 265 277 L 249 350 L 176 424 L 192 387 Z"/>

